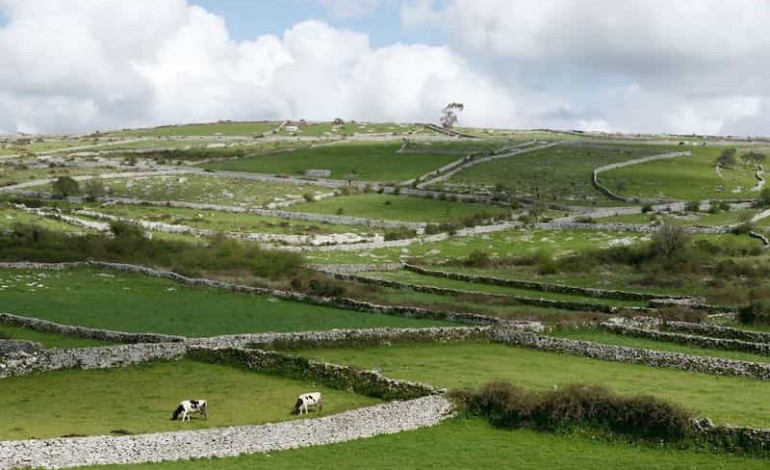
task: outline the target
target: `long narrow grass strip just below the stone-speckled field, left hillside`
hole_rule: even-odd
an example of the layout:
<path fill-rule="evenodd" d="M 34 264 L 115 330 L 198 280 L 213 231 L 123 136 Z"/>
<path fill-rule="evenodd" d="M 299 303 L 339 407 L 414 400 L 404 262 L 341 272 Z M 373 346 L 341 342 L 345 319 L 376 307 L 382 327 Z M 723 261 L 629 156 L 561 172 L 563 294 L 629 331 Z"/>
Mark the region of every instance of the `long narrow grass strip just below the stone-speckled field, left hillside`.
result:
<path fill-rule="evenodd" d="M 357 225 L 340 225 L 323 222 L 281 219 L 255 214 L 188 209 L 182 207 L 158 207 L 142 205 L 110 205 L 86 207 L 96 212 L 167 224 L 219 232 L 277 233 L 312 235 L 323 233 L 370 233 L 370 229 Z"/>

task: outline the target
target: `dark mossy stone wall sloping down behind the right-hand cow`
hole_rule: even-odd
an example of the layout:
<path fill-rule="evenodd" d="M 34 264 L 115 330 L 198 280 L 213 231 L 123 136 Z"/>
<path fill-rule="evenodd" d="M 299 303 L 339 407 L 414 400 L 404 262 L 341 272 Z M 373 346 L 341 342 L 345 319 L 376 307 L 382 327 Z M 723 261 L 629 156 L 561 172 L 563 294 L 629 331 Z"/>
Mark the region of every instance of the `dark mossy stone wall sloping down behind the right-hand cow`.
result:
<path fill-rule="evenodd" d="M 409 400 L 442 393 L 431 385 L 390 379 L 376 371 L 315 361 L 275 351 L 191 348 L 191 359 L 228 364 L 270 375 L 313 381 L 384 400 Z"/>

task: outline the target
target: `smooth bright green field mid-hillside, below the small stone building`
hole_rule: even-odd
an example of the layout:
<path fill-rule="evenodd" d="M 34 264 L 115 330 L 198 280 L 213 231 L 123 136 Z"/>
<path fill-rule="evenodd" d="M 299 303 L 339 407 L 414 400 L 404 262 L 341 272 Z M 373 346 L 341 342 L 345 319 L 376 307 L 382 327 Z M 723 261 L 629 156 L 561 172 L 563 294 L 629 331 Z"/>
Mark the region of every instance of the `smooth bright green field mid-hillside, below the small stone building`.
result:
<path fill-rule="evenodd" d="M 341 214 L 367 219 L 435 223 L 458 220 L 481 212 L 494 214 L 500 218 L 505 218 L 509 213 L 508 209 L 495 206 L 387 194 L 338 196 L 296 204 L 288 210 L 314 214 Z"/>

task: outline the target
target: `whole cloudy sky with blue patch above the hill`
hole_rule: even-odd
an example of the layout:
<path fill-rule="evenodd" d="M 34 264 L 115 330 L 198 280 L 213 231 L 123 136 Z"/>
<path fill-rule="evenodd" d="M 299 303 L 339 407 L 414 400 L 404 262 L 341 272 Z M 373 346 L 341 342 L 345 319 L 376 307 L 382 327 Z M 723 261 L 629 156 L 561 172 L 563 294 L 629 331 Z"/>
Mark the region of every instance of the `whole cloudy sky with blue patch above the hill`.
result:
<path fill-rule="evenodd" d="M 770 1 L 0 0 L 0 134 L 342 118 L 770 129 Z"/>

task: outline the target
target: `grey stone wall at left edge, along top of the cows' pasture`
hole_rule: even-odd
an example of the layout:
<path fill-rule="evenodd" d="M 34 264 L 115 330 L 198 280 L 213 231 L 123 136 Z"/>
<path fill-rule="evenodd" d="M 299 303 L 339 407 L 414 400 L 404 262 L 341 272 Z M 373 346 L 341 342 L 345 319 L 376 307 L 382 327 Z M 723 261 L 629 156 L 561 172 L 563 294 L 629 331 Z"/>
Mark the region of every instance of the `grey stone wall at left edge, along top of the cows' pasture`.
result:
<path fill-rule="evenodd" d="M 184 343 L 157 343 L 17 353 L 5 356 L 0 362 L 0 378 L 58 369 L 107 369 L 153 360 L 168 361 L 181 358 L 186 351 Z"/>

